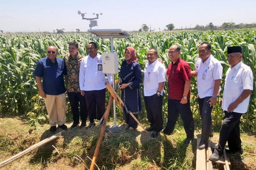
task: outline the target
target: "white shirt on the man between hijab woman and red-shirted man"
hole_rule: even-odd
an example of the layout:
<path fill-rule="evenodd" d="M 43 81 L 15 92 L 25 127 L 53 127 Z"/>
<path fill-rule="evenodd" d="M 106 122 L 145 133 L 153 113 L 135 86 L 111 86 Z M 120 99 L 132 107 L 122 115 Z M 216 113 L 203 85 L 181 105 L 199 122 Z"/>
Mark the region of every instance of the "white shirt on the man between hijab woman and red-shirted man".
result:
<path fill-rule="evenodd" d="M 146 64 L 144 69 L 144 96 L 152 96 L 158 90 L 158 84 L 165 82 L 166 70 L 162 63 L 157 59 L 151 65 Z M 164 89 L 161 90 L 163 95 Z"/>

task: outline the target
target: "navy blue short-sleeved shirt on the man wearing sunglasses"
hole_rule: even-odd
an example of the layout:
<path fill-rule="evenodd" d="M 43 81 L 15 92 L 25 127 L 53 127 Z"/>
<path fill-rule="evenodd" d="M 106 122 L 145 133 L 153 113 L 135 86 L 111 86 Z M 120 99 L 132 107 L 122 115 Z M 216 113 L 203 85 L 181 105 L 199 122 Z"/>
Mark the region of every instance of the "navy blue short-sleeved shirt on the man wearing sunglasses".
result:
<path fill-rule="evenodd" d="M 67 74 L 67 70 L 63 59 L 56 58 L 56 62 L 52 63 L 45 57 L 38 61 L 33 74 L 43 78 L 45 94 L 59 95 L 66 91 L 63 75 Z"/>

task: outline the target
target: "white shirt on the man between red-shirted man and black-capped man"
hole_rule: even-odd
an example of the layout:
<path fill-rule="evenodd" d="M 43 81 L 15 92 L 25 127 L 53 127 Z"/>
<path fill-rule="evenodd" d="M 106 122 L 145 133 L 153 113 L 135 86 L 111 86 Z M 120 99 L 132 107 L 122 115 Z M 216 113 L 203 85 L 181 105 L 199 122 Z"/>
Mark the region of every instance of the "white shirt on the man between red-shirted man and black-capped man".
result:
<path fill-rule="evenodd" d="M 215 80 L 222 79 L 222 66 L 212 55 L 203 63 L 197 60 L 195 71 L 197 74 L 197 90 L 200 98 L 213 95 Z M 220 88 L 218 94 L 220 94 Z"/>

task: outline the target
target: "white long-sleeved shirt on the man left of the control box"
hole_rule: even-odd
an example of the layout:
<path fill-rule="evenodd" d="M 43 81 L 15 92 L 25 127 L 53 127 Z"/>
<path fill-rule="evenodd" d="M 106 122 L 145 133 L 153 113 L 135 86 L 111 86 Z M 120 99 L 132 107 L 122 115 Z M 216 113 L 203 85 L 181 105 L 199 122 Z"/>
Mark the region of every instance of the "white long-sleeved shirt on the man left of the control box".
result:
<path fill-rule="evenodd" d="M 90 55 L 84 57 L 81 61 L 79 71 L 79 85 L 81 90 L 101 90 L 105 86 L 105 74 L 98 70 L 98 65 L 102 65 L 101 55 L 92 58 Z M 107 75 L 108 81 L 112 84 L 112 76 Z"/>

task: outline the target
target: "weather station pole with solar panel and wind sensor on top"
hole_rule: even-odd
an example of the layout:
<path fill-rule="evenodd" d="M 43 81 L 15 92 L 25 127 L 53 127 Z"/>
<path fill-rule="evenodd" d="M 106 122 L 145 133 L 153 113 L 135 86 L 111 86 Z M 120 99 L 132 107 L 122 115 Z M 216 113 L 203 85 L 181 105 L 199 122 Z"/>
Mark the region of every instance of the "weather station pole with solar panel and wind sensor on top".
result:
<path fill-rule="evenodd" d="M 92 21 L 92 20 L 96 20 L 99 19 L 99 14 L 96 13 L 96 18 L 85 18 L 84 15 L 86 13 L 84 12 L 80 12 L 78 11 L 78 14 L 82 16 L 82 19 L 84 20 L 89 20 L 90 21 L 90 29 L 88 30 L 88 32 L 90 33 L 91 38 L 109 38 L 110 39 L 110 46 L 111 46 L 111 54 L 115 54 L 114 53 L 114 45 L 113 45 L 113 38 L 125 38 L 125 37 L 130 37 L 130 35 L 126 32 L 124 32 L 121 29 L 99 29 L 99 30 L 93 30 L 92 27 L 94 26 L 98 26 L 97 21 Z M 95 15 L 95 13 L 93 13 L 93 15 Z M 100 13 L 100 15 L 102 15 L 102 13 Z M 93 36 L 96 35 L 96 36 Z M 104 54 L 104 53 L 103 53 Z M 103 59 L 102 59 L 103 60 Z M 118 57 L 117 57 L 118 60 Z M 104 65 L 103 65 L 104 66 Z M 116 65 L 114 66 L 115 68 L 117 68 L 117 72 L 116 70 L 114 72 L 109 72 L 110 74 L 112 74 L 112 87 L 115 90 L 115 74 L 118 73 L 118 61 L 116 63 Z M 103 67 L 103 73 L 104 73 L 104 67 Z M 114 115 L 114 127 L 117 127 L 117 122 L 116 122 L 116 101 L 113 100 L 113 115 Z"/>

